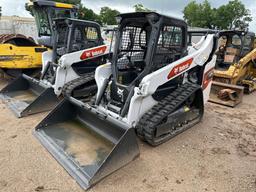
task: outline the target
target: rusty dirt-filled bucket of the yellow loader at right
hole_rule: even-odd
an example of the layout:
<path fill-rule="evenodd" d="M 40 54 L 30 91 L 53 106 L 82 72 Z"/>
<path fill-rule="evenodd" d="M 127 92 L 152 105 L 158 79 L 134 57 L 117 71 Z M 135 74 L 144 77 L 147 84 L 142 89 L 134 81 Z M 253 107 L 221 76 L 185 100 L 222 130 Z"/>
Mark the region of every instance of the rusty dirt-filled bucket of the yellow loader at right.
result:
<path fill-rule="evenodd" d="M 220 82 L 213 82 L 209 102 L 235 107 L 242 102 L 244 87 Z"/>

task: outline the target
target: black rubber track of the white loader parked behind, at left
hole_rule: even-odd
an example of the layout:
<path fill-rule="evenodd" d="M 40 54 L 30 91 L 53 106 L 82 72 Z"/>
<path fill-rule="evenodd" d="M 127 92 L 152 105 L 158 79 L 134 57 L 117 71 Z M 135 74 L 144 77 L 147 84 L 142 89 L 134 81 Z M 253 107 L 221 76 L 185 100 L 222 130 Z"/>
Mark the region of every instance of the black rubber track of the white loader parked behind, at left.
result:
<path fill-rule="evenodd" d="M 64 96 L 67 96 L 67 97 L 70 97 L 72 96 L 72 92 L 73 90 L 76 88 L 76 87 L 79 87 L 85 83 L 88 83 L 90 81 L 94 80 L 94 73 L 89 73 L 89 74 L 86 74 L 86 75 L 83 75 L 77 79 L 74 79 L 68 83 L 66 83 L 64 86 L 63 86 L 63 89 L 62 89 L 62 94 Z M 89 88 L 89 87 L 88 87 Z M 90 94 L 90 92 L 89 92 Z M 89 95 L 88 94 L 88 95 Z M 85 95 L 86 97 L 87 95 Z"/>

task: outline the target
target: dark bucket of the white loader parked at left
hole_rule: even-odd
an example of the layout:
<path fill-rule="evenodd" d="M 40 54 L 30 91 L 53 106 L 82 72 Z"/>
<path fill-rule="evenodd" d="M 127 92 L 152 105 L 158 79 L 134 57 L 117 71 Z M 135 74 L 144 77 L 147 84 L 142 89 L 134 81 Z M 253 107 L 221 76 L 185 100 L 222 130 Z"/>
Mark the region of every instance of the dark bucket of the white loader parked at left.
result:
<path fill-rule="evenodd" d="M 52 88 L 24 74 L 3 88 L 0 98 L 19 118 L 49 111 L 59 103 Z"/>

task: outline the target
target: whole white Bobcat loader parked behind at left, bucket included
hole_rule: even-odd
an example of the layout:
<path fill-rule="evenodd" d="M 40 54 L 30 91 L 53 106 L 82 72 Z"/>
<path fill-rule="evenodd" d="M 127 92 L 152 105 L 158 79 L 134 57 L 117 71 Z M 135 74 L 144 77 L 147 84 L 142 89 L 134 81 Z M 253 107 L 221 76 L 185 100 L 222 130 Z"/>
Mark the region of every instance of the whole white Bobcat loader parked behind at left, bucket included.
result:
<path fill-rule="evenodd" d="M 109 56 L 99 24 L 55 19 L 51 42 L 53 50 L 42 56 L 40 80 L 23 74 L 0 91 L 17 117 L 49 111 L 63 94 L 88 99 L 97 92 L 94 72 Z"/>

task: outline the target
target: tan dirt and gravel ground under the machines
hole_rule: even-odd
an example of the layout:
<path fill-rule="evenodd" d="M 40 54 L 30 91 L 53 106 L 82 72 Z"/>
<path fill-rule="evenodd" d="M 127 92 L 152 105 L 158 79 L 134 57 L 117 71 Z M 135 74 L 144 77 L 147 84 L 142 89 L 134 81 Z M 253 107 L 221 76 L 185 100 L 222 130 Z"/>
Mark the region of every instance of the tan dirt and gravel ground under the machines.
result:
<path fill-rule="evenodd" d="M 0 88 L 6 82 L 0 81 Z M 33 137 L 46 113 L 17 119 L 0 101 L 0 191 L 83 191 Z M 90 192 L 256 192 L 256 93 L 207 104 L 202 123 L 152 148 Z"/>

